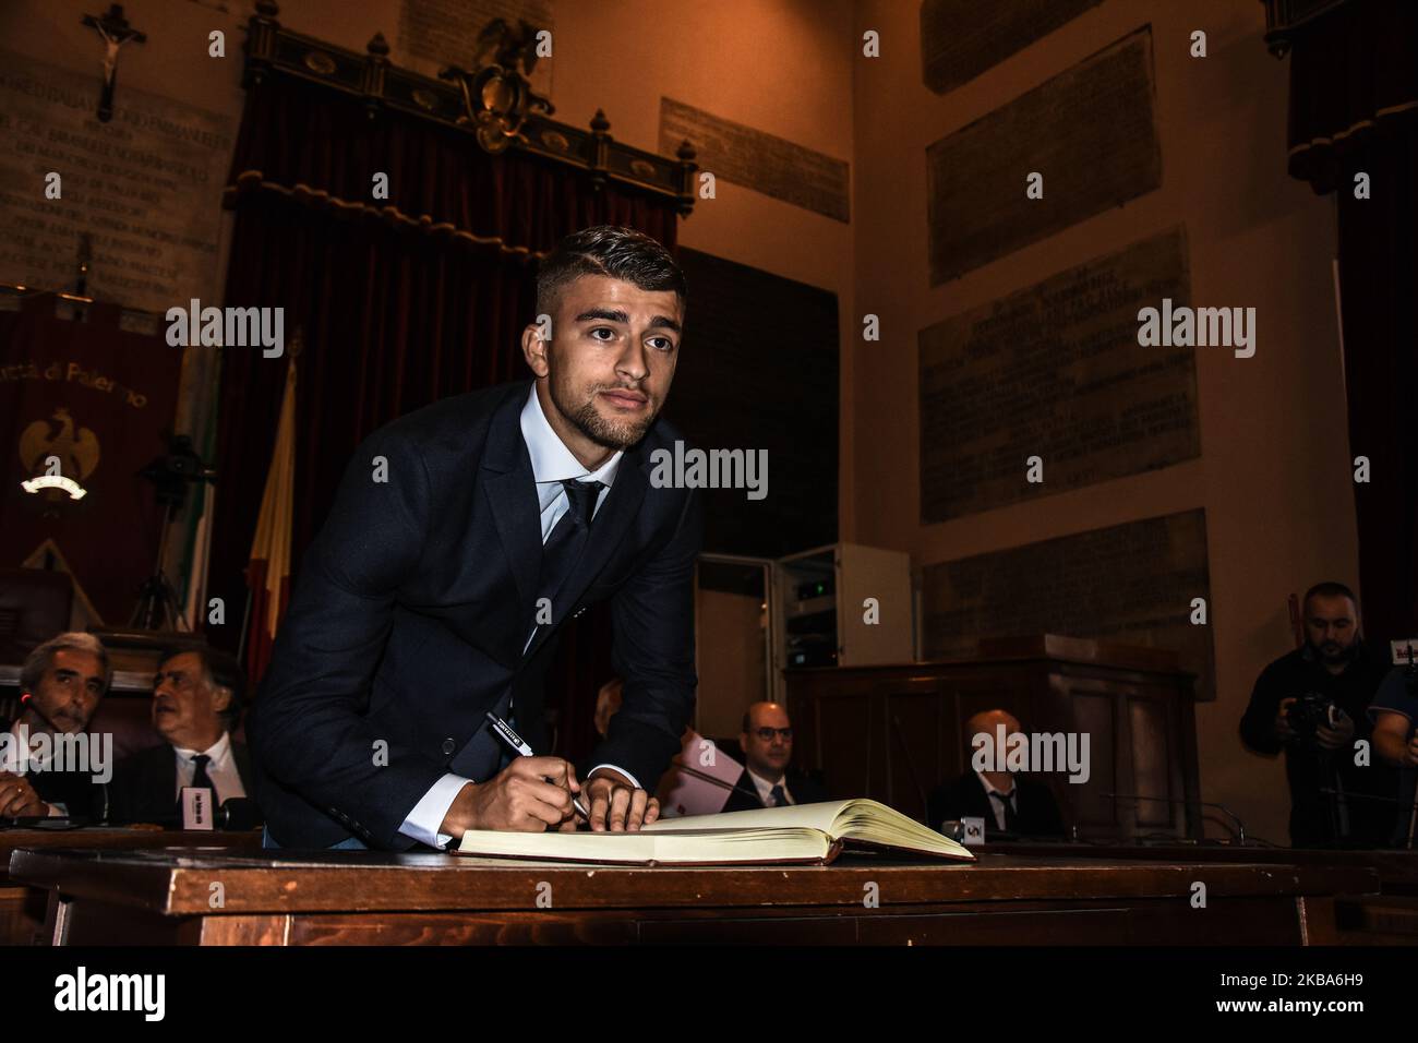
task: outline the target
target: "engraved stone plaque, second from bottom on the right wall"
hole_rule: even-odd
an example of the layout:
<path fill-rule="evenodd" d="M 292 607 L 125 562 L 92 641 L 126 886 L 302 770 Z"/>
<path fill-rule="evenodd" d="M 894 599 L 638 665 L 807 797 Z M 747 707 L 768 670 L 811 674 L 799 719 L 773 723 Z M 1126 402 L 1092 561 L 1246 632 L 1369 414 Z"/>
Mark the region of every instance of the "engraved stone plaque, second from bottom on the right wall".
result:
<path fill-rule="evenodd" d="M 1194 349 L 1137 343 L 1188 295 L 1178 227 L 920 331 L 922 524 L 1200 456 Z"/>

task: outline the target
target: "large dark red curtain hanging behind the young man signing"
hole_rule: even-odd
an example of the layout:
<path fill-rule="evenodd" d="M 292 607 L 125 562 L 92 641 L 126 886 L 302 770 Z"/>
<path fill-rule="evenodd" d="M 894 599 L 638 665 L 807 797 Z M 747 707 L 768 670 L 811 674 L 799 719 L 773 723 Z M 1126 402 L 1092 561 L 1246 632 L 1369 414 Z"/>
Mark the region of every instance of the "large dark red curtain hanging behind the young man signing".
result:
<path fill-rule="evenodd" d="M 376 197 L 387 175 L 387 199 Z M 563 236 L 625 224 L 675 250 L 674 200 L 607 183 L 315 84 L 268 77 L 247 95 L 227 189 L 235 210 L 228 307 L 281 307 L 299 331 L 292 575 L 360 438 L 450 394 L 529 375 L 535 263 Z M 245 605 L 242 570 L 277 433 L 284 358 L 223 351 L 210 595 Z M 237 616 L 237 613 L 233 613 Z M 213 633 L 228 649 L 238 626 Z M 610 674 L 605 620 L 567 627 L 549 680 L 559 735 L 593 732 Z M 580 718 L 586 722 L 581 724 Z M 563 755 L 583 749 L 560 744 Z"/>

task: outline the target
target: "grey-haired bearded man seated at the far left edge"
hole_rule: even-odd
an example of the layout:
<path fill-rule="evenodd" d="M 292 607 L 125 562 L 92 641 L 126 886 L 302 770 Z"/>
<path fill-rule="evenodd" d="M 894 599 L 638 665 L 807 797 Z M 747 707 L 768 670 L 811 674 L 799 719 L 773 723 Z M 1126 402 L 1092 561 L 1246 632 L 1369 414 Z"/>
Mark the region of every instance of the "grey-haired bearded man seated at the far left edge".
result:
<path fill-rule="evenodd" d="M 112 736 L 105 745 L 85 729 L 111 677 L 108 650 L 94 634 L 58 634 L 26 656 L 20 667 L 24 710 L 14 721 L 0 718 L 6 739 L 0 745 L 0 817 L 104 817 Z M 74 755 L 86 763 L 68 763 Z"/>

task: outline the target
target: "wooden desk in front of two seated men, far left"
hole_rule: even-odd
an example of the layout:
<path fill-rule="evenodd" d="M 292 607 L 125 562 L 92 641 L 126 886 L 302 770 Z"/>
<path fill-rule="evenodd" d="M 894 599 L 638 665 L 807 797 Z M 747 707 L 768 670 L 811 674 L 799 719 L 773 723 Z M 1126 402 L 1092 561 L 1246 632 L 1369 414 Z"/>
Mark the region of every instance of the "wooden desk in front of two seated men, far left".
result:
<path fill-rule="evenodd" d="M 0 945 L 33 945 L 44 941 L 44 890 L 10 880 L 10 854 L 18 849 L 94 847 L 121 850 L 135 847 L 176 847 L 191 850 L 216 844 L 223 850 L 261 850 L 261 832 L 251 833 L 176 833 L 146 829 L 10 829 L 0 832 Z"/>

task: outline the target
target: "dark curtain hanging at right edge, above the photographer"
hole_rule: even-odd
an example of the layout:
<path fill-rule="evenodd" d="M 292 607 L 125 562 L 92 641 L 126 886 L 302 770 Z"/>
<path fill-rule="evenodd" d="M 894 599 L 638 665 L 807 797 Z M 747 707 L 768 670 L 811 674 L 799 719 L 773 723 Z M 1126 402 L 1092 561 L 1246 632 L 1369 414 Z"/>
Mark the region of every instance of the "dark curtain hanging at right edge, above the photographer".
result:
<path fill-rule="evenodd" d="M 1290 173 L 1339 207 L 1364 627 L 1418 636 L 1418 4 L 1350 0 L 1299 33 L 1289 136 Z"/>

